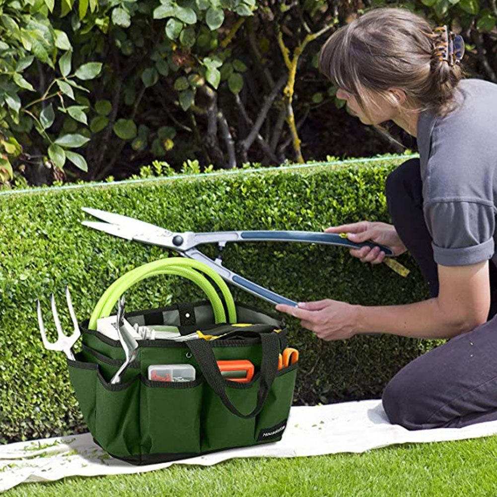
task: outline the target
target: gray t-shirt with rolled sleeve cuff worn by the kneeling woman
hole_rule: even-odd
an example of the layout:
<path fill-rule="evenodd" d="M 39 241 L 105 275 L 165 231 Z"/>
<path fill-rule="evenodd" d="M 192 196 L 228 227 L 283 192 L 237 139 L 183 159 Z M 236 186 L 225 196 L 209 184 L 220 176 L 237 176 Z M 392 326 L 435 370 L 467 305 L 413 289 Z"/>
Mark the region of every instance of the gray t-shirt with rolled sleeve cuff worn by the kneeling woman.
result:
<path fill-rule="evenodd" d="M 497 84 L 466 79 L 457 88 L 447 116 L 419 115 L 424 219 L 436 263 L 497 264 Z"/>

